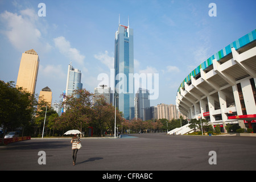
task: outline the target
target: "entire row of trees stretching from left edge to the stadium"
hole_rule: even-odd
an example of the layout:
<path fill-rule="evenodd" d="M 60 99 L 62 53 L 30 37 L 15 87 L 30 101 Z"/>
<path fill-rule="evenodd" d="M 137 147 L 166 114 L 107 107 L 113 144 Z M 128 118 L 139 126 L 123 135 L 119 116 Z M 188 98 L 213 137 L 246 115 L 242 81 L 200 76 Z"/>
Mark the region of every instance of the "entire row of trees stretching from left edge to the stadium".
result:
<path fill-rule="evenodd" d="M 63 97 L 63 96 L 61 96 Z M 93 134 L 103 137 L 113 135 L 114 122 L 120 133 L 166 132 L 187 123 L 184 119 L 142 121 L 124 119 L 123 113 L 108 104 L 103 96 L 94 96 L 86 89 L 75 90 L 71 96 L 64 96 L 61 107 L 65 112 L 59 115 L 41 97 L 16 87 L 13 81 L 0 80 L 0 126 L 5 131 L 19 130 L 22 136 L 41 137 L 44 119 L 44 136 L 62 136 L 65 131 L 88 130 L 93 127 Z M 168 128 L 167 128 L 168 125 Z"/>

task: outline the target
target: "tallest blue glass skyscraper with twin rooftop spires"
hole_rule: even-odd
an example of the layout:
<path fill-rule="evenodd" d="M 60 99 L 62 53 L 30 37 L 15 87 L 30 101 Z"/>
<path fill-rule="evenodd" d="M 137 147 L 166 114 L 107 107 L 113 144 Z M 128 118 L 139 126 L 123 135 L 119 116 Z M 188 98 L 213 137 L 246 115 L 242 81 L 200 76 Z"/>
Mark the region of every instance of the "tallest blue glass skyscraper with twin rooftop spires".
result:
<path fill-rule="evenodd" d="M 114 105 L 123 112 L 125 119 L 134 118 L 134 88 L 133 81 L 129 80 L 129 73 L 134 73 L 133 58 L 133 29 L 119 23 L 115 32 L 115 94 Z M 133 79 L 133 78 L 131 78 Z"/>

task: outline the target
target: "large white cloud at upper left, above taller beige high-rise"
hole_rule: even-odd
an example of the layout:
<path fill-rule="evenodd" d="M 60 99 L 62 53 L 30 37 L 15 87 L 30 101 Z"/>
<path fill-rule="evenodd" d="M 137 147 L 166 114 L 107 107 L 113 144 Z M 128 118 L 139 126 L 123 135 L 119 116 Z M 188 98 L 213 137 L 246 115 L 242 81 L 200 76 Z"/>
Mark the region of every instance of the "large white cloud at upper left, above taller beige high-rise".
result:
<path fill-rule="evenodd" d="M 2 34 L 7 36 L 18 51 L 24 52 L 33 48 L 37 52 L 47 52 L 51 48 L 42 38 L 42 24 L 33 9 L 21 10 L 19 14 L 5 11 L 0 14 L 0 20 L 4 24 L 1 28 Z"/>

